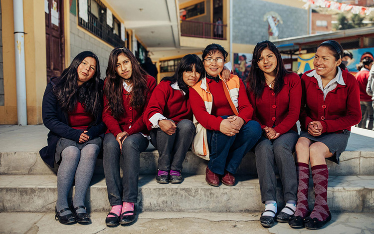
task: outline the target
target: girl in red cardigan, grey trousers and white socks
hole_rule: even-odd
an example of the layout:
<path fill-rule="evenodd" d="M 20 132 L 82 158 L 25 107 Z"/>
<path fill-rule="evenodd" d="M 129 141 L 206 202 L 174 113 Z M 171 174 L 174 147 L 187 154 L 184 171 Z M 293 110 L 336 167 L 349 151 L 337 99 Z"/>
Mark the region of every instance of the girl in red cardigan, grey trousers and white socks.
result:
<path fill-rule="evenodd" d="M 296 122 L 300 114 L 300 77 L 288 72 L 277 47 L 265 40 L 253 50 L 247 79 L 247 94 L 253 107 L 253 120 L 260 123 L 263 135 L 255 146 L 261 201 L 265 211 L 260 222 L 272 227 L 274 220 L 287 223 L 296 210 L 297 178 L 292 152 L 299 134 Z M 286 206 L 277 215 L 278 167 Z"/>

